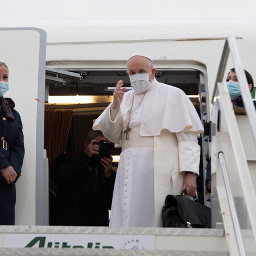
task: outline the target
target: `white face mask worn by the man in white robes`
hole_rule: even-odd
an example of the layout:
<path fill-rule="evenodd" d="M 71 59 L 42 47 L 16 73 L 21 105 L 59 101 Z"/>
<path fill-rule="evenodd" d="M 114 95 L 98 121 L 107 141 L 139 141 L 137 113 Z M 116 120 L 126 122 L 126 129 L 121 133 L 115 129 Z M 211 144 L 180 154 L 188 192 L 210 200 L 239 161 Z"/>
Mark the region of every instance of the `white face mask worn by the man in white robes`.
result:
<path fill-rule="evenodd" d="M 135 92 L 143 93 L 150 88 L 150 85 L 151 85 L 151 82 L 149 81 L 150 73 L 146 73 L 146 74 L 142 73 L 142 74 L 135 74 L 135 75 L 129 76 L 131 87 L 133 87 Z"/>

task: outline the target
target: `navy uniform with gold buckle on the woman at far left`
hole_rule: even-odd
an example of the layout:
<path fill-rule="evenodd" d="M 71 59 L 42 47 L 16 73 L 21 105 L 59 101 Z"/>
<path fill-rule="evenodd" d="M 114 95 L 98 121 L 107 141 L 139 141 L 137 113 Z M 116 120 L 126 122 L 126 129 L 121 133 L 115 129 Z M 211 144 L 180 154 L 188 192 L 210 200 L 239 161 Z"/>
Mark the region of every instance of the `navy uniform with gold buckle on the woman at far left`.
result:
<path fill-rule="evenodd" d="M 6 118 L 5 114 L 0 111 L 0 138 L 5 138 L 8 143 L 8 148 L 5 150 L 0 141 L 0 170 L 12 166 L 19 177 L 24 158 L 22 122 L 19 113 L 15 109 L 12 109 L 12 112 L 14 120 Z M 15 182 L 7 184 L 6 179 L 0 173 L 0 225 L 14 225 Z"/>

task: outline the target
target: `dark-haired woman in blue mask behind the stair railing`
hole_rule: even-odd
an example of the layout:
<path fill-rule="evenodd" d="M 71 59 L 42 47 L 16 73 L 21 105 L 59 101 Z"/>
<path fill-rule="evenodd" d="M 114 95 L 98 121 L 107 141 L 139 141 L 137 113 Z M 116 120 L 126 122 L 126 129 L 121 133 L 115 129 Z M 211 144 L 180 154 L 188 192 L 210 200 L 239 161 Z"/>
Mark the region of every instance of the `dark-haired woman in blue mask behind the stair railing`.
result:
<path fill-rule="evenodd" d="M 252 91 L 254 87 L 253 77 L 246 70 L 245 70 L 245 76 L 249 85 L 249 89 L 250 91 Z M 234 68 L 230 69 L 230 72 L 228 73 L 228 77 L 226 78 L 226 82 L 229 90 L 229 95 L 232 100 L 232 104 L 234 106 L 245 108 L 243 105 L 243 100 L 241 96 L 242 93 L 241 93 L 240 85 L 238 83 L 236 71 Z M 253 102 L 256 108 L 256 101 L 253 101 Z"/>

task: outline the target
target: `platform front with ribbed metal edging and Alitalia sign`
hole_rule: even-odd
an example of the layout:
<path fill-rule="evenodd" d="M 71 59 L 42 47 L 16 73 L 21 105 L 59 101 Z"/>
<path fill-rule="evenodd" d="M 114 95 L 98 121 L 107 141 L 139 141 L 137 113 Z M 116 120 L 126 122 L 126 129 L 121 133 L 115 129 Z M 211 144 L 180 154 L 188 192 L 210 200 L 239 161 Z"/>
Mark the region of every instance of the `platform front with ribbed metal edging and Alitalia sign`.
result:
<path fill-rule="evenodd" d="M 222 229 L 0 226 L 0 232 L 0 255 L 229 255 Z"/>

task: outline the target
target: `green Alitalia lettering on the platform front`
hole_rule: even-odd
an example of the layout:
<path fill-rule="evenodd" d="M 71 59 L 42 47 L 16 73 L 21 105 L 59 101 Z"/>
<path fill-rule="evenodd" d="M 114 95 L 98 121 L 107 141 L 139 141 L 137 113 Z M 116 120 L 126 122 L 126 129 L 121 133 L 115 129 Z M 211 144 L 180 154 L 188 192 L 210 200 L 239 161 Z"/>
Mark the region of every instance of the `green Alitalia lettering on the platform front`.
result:
<path fill-rule="evenodd" d="M 88 242 L 87 246 L 71 245 L 68 242 L 46 242 L 46 237 L 35 237 L 25 247 L 39 247 L 39 248 L 114 248 L 113 246 L 101 245 L 100 242 Z"/>

